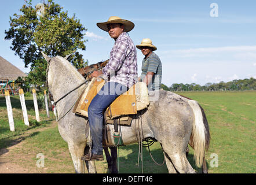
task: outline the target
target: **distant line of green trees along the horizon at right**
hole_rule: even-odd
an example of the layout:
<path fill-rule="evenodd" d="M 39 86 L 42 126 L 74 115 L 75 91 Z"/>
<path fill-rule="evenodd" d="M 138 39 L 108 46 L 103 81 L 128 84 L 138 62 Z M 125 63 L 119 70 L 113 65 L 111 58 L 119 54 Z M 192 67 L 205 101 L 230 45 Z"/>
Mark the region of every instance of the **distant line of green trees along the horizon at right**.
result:
<path fill-rule="evenodd" d="M 251 77 L 244 80 L 233 80 L 232 82 L 207 83 L 204 86 L 199 84 L 174 83 L 171 87 L 161 84 L 161 88 L 166 91 L 239 91 L 256 90 L 256 79 Z"/>

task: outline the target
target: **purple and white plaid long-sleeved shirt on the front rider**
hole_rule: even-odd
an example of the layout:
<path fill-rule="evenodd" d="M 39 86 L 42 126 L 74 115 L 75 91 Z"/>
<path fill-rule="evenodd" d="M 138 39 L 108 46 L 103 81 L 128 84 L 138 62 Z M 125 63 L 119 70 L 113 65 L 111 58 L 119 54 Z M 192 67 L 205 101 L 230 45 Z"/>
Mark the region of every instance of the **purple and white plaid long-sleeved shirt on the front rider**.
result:
<path fill-rule="evenodd" d="M 103 74 L 108 76 L 110 82 L 118 82 L 129 88 L 136 83 L 138 75 L 136 47 L 126 32 L 115 40 L 108 64 L 103 68 Z"/>

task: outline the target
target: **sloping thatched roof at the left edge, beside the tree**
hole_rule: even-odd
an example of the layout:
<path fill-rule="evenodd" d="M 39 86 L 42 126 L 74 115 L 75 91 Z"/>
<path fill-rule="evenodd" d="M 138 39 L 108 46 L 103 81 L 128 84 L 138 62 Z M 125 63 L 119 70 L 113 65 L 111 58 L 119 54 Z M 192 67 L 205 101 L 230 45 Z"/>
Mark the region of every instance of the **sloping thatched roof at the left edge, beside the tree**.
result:
<path fill-rule="evenodd" d="M 16 80 L 19 76 L 27 75 L 0 56 L 0 79 Z"/>

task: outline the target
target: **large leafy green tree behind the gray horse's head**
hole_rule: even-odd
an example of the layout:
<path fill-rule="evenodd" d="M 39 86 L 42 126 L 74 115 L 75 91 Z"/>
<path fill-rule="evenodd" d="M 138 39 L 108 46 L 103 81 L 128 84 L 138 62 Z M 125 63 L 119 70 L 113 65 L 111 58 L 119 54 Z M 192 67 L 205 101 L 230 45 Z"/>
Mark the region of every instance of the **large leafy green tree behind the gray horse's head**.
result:
<path fill-rule="evenodd" d="M 74 53 L 70 62 L 76 68 L 86 66 L 78 49 L 85 50 L 84 40 L 87 29 L 74 16 L 68 17 L 68 12 L 48 0 L 32 6 L 32 0 L 25 1 L 20 9 L 21 14 L 10 17 L 10 28 L 5 31 L 5 39 L 12 40 L 10 47 L 21 59 L 25 67 L 31 66 L 27 80 L 37 88 L 46 83 L 47 62 L 41 51 L 48 56 L 67 56 Z"/>

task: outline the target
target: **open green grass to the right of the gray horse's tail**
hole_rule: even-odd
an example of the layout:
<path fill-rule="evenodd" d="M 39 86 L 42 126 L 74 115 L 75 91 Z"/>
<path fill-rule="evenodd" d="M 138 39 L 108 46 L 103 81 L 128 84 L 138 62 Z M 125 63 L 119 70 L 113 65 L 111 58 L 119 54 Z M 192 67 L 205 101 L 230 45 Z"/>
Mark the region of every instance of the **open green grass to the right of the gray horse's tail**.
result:
<path fill-rule="evenodd" d="M 207 153 L 212 173 L 255 173 L 256 92 L 179 93 L 202 105 L 210 125 Z M 191 150 L 192 151 L 192 150 Z M 211 168 L 210 154 L 218 155 L 218 168 Z"/>

